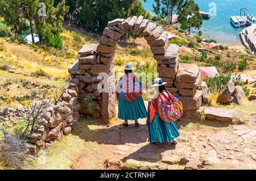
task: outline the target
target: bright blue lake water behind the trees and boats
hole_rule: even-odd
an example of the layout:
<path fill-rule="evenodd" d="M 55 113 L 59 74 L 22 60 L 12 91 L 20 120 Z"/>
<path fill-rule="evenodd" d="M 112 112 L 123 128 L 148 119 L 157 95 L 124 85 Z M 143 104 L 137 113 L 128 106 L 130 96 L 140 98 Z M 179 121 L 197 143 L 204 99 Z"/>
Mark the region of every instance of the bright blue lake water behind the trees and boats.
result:
<path fill-rule="evenodd" d="M 153 11 L 152 4 L 154 0 L 142 0 L 143 7 L 148 11 Z M 256 16 L 256 1 L 255 0 L 195 0 L 201 11 L 209 11 L 213 6 L 210 3 L 216 4 L 216 16 L 210 17 L 209 20 L 204 20 L 203 26 L 200 28 L 203 31 L 203 36 L 212 38 L 222 43 L 237 43 L 240 41 L 239 33 L 242 28 L 234 28 L 230 24 L 230 16 L 240 15 L 240 9 L 246 7 L 254 16 Z"/>

